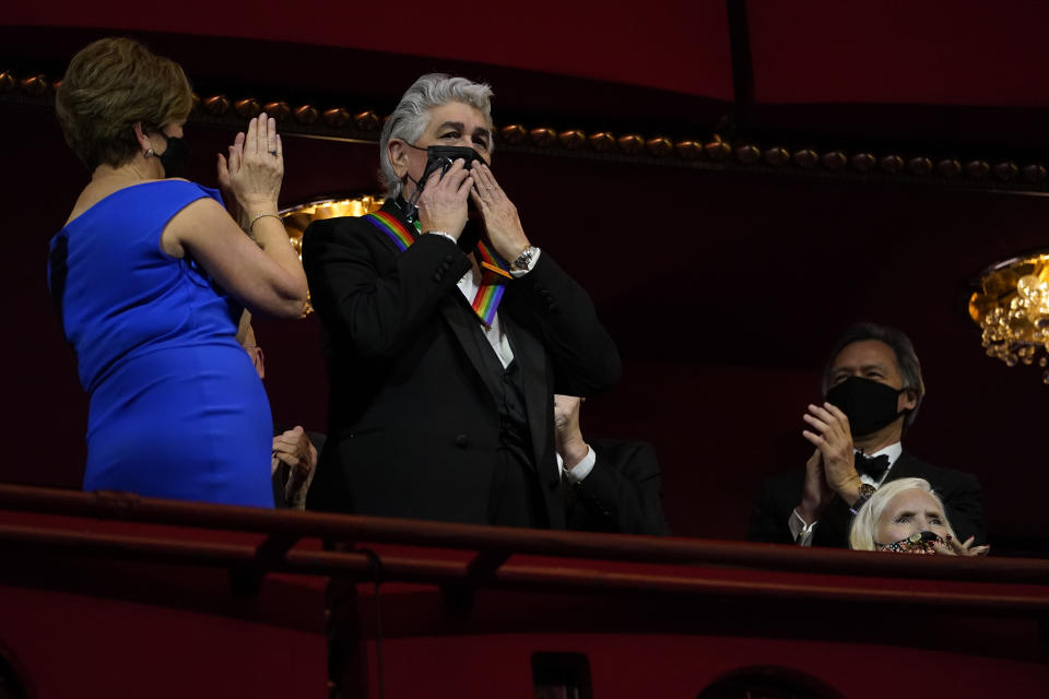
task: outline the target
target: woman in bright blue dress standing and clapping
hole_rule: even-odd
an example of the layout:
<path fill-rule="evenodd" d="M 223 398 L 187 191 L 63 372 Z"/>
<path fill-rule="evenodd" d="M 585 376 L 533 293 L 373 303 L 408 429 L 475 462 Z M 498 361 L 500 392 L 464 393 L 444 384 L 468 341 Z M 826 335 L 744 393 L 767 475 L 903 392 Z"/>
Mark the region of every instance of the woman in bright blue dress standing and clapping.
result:
<path fill-rule="evenodd" d="M 127 38 L 81 50 L 58 90 L 91 171 L 48 260 L 90 396 L 84 489 L 272 507 L 269 401 L 236 331 L 243 308 L 297 318 L 306 301 L 276 216 L 281 140 L 263 114 L 219 156 L 238 225 L 178 179 L 191 106 L 181 68 Z"/>

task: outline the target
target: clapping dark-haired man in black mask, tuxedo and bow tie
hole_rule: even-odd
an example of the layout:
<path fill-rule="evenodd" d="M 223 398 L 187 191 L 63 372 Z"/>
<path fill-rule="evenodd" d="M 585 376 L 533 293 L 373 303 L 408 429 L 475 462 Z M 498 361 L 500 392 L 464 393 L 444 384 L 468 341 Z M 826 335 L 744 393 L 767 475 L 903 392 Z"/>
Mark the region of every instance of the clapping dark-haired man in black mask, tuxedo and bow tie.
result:
<path fill-rule="evenodd" d="M 751 514 L 750 538 L 848 547 L 852 512 L 883 483 L 928 481 L 962 541 L 983 544 L 983 503 L 976 476 L 928 464 L 901 445 L 924 398 L 910 340 L 875 323 L 853 325 L 824 366 L 826 402 L 809 405 L 802 435 L 815 447 L 805 470 L 773 476 Z"/>

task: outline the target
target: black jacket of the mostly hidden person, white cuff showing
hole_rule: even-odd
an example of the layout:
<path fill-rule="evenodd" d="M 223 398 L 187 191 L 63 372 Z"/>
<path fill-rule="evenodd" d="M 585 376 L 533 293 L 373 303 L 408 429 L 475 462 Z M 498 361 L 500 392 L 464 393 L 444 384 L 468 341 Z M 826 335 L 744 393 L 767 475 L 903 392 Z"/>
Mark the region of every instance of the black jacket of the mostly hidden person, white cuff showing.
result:
<path fill-rule="evenodd" d="M 589 441 L 593 470 L 565 493 L 568 529 L 669 535 L 656 450 L 641 441 Z"/>

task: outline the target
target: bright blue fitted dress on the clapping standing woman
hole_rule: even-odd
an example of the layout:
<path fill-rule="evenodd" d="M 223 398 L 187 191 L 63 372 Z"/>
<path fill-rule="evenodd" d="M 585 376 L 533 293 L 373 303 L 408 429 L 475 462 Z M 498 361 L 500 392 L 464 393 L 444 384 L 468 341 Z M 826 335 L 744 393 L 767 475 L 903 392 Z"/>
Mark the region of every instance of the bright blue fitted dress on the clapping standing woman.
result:
<path fill-rule="evenodd" d="M 161 249 L 204 197 L 222 201 L 184 180 L 135 185 L 51 239 L 48 286 L 90 396 L 84 489 L 273 507 L 273 423 L 236 341 L 241 309 Z"/>

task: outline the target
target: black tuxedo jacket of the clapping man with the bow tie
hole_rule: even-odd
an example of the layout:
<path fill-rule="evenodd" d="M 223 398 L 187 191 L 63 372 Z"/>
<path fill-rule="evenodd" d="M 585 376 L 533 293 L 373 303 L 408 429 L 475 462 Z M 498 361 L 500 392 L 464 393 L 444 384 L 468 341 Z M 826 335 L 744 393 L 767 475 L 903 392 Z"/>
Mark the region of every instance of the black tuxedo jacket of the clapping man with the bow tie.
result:
<path fill-rule="evenodd" d="M 905 449 L 889 470 L 885 483 L 898 478 L 928 481 L 943 500 L 947 520 L 960 541 L 976 536 L 976 544 L 987 543 L 987 532 L 983 528 L 983 496 L 976 476 L 926 463 Z M 766 481 L 751 512 L 747 537 L 752 541 L 776 544 L 793 543 L 788 521 L 793 509 L 801 502 L 804 485 L 804 469 L 780 473 Z M 849 547 L 849 525 L 852 522 L 849 506 L 851 505 L 835 496 L 820 517 L 820 522 L 813 532 L 814 546 Z"/>

